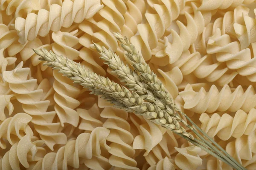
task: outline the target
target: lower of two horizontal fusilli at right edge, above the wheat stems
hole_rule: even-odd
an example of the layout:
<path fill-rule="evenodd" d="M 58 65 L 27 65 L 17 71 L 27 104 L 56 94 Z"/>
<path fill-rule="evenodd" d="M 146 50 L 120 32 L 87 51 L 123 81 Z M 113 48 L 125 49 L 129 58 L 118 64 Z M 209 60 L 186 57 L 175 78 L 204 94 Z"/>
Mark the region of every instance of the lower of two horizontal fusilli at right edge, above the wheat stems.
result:
<path fill-rule="evenodd" d="M 210 137 L 217 135 L 221 140 L 228 140 L 231 136 L 239 138 L 242 135 L 250 135 L 256 129 L 256 109 L 251 109 L 247 114 L 238 110 L 234 117 L 225 113 L 220 116 L 218 113 L 207 115 L 203 113 L 199 120 L 201 128 Z"/>

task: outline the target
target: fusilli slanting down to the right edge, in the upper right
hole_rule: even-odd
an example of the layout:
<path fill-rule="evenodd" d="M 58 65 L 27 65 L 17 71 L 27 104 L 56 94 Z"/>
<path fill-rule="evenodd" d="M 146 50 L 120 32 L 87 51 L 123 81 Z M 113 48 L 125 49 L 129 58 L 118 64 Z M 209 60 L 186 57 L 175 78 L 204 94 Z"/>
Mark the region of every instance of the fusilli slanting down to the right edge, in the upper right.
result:
<path fill-rule="evenodd" d="M 217 61 L 226 62 L 229 69 L 236 70 L 249 81 L 256 82 L 256 58 L 251 58 L 251 50 L 241 49 L 239 42 L 232 42 L 227 34 L 221 35 L 220 29 L 209 39 L 207 53 L 214 54 Z"/>

